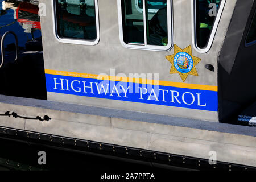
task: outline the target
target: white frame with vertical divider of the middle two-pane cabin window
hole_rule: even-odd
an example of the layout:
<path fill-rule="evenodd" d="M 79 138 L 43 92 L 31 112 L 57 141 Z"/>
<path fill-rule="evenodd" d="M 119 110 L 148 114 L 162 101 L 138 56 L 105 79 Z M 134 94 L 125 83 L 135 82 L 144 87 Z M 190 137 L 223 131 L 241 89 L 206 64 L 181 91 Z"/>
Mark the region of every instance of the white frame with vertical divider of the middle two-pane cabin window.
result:
<path fill-rule="evenodd" d="M 123 19 L 122 19 L 122 6 L 121 1 L 117 0 L 117 8 L 118 8 L 118 22 L 119 22 L 119 39 L 123 47 L 128 49 L 140 49 L 147 51 L 170 51 L 174 46 L 174 26 L 173 26 L 173 5 L 172 0 L 167 0 L 167 27 L 168 27 L 168 44 L 167 46 L 156 46 L 156 45 L 148 45 L 147 44 L 147 26 L 146 26 L 146 6 L 145 1 L 143 0 L 143 24 L 144 24 L 144 45 L 136 45 L 136 44 L 126 44 L 123 40 Z M 135 0 L 136 2 L 136 0 Z M 150 12 L 151 13 L 151 12 Z"/>

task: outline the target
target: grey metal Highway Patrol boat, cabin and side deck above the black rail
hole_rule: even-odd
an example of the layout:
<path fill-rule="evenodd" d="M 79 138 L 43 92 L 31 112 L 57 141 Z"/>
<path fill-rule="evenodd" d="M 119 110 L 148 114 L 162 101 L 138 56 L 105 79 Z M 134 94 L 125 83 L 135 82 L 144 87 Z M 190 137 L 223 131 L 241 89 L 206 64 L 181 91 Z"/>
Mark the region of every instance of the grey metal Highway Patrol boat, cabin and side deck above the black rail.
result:
<path fill-rule="evenodd" d="M 256 166 L 255 0 L 39 6 L 47 99 L 0 101 L 3 113 L 48 118 L 2 117 L 3 129 L 153 164 Z"/>

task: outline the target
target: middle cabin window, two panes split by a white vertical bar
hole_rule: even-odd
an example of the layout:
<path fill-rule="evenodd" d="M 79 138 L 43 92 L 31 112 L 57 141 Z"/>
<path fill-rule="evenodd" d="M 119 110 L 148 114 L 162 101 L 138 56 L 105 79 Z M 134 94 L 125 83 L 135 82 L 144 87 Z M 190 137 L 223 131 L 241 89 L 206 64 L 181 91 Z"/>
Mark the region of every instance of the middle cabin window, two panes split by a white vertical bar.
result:
<path fill-rule="evenodd" d="M 120 39 L 126 48 L 168 51 L 172 47 L 170 0 L 118 0 Z"/>

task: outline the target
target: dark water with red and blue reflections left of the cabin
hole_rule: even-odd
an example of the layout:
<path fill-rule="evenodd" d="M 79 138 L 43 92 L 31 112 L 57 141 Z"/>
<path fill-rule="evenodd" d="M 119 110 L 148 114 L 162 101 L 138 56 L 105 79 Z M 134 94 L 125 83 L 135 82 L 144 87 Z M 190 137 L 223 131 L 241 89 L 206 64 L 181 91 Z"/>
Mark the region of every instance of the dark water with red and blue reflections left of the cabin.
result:
<path fill-rule="evenodd" d="M 0 94 L 47 99 L 38 11 L 36 0 L 0 0 L 0 39 L 5 32 L 13 31 L 19 42 L 18 61 L 14 61 L 16 54 L 13 35 L 5 38 L 5 55 L 0 68 Z"/>

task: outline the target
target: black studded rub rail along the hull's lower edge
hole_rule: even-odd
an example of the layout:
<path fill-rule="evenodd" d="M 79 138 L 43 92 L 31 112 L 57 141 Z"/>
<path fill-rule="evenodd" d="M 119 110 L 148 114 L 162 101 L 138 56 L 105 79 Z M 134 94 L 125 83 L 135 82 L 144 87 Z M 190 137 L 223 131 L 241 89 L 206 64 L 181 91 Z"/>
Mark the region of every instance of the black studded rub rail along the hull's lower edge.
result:
<path fill-rule="evenodd" d="M 94 142 L 90 140 L 61 137 L 57 135 L 35 133 L 33 131 L 16 130 L 7 127 L 0 127 L 0 137 L 46 144 L 48 146 L 71 149 L 78 152 L 93 152 L 96 154 L 112 155 L 126 159 L 135 159 L 183 168 L 213 171 L 256 171 L 255 167 L 245 166 L 241 164 L 217 161 L 216 164 L 210 165 L 208 159 L 168 154 L 164 152 L 144 150 L 140 148 Z"/>

